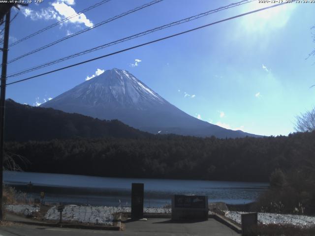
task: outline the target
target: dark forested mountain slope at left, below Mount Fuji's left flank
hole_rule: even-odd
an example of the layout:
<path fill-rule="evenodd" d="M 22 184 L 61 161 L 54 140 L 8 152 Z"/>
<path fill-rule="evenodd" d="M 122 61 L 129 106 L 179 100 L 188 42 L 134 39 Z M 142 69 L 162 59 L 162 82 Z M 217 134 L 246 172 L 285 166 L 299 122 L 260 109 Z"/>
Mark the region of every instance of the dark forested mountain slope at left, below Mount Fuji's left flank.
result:
<path fill-rule="evenodd" d="M 148 136 L 152 134 L 134 129 L 119 120 L 99 120 L 52 108 L 22 105 L 11 99 L 6 100 L 5 141 Z"/>

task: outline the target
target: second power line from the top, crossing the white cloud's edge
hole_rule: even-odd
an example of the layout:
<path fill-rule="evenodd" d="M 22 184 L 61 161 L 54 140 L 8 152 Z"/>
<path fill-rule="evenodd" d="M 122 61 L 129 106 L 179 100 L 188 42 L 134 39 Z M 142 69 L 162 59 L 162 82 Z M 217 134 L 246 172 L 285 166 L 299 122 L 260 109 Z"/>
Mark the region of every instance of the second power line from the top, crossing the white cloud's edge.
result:
<path fill-rule="evenodd" d="M 24 58 L 24 57 L 26 57 L 26 56 L 29 56 L 29 55 L 31 55 L 31 54 L 33 54 L 33 53 L 36 53 L 36 52 L 38 52 L 38 51 L 41 51 L 41 50 L 46 49 L 46 48 L 48 48 L 48 47 L 51 47 L 51 46 L 53 46 L 53 45 L 55 45 L 55 44 L 57 44 L 57 43 L 60 43 L 60 42 L 66 40 L 66 39 L 68 39 L 68 38 L 71 38 L 71 37 L 74 37 L 74 36 L 79 35 L 79 34 L 81 34 L 81 33 L 87 32 L 87 31 L 89 31 L 89 30 L 91 30 L 91 29 L 95 29 L 96 27 L 99 27 L 99 26 L 101 26 L 101 25 L 104 25 L 104 24 L 106 24 L 106 23 L 109 23 L 109 22 L 111 22 L 111 21 L 114 21 L 114 20 L 116 20 L 116 19 L 118 19 L 118 18 L 124 17 L 124 16 L 126 16 L 126 15 L 128 15 L 128 14 L 131 14 L 131 13 L 133 13 L 133 12 L 135 12 L 135 11 L 138 11 L 138 10 L 141 10 L 141 9 L 143 9 L 143 8 L 145 8 L 145 7 L 148 7 L 148 6 L 151 6 L 151 5 L 153 5 L 153 4 L 156 4 L 156 3 L 160 2 L 160 1 L 162 1 L 162 0 L 153 0 L 153 1 L 151 1 L 151 2 L 149 2 L 149 3 L 146 3 L 146 4 L 142 5 L 142 6 L 138 6 L 138 7 L 134 8 L 134 9 L 131 9 L 131 10 L 127 11 L 127 12 L 124 12 L 124 13 L 122 13 L 122 14 L 120 14 L 120 15 L 114 16 L 114 17 L 109 18 L 109 19 L 107 19 L 107 20 L 105 20 L 105 21 L 102 21 L 102 22 L 100 22 L 100 23 L 97 23 L 97 24 L 94 25 L 94 26 L 87 27 L 87 28 L 82 29 L 82 30 L 80 30 L 80 31 L 78 31 L 78 32 L 75 32 L 75 33 L 72 33 L 72 34 L 70 34 L 70 35 L 68 35 L 68 36 L 65 36 L 65 37 L 63 37 L 63 38 L 61 38 L 61 39 L 59 39 L 59 40 L 56 40 L 56 41 L 54 41 L 54 42 L 52 42 L 52 43 L 49 43 L 49 44 L 47 44 L 47 45 L 45 45 L 45 46 L 42 46 L 42 47 L 40 47 L 40 48 L 37 48 L 37 49 L 35 49 L 35 50 L 33 50 L 33 51 L 29 52 L 29 53 L 26 53 L 26 54 L 24 54 L 24 55 L 22 55 L 22 56 L 17 57 L 17 58 L 15 58 L 15 59 L 9 60 L 8 63 L 11 63 L 11 62 L 16 61 L 16 60 L 18 60 L 18 59 L 21 59 L 21 58 Z"/>

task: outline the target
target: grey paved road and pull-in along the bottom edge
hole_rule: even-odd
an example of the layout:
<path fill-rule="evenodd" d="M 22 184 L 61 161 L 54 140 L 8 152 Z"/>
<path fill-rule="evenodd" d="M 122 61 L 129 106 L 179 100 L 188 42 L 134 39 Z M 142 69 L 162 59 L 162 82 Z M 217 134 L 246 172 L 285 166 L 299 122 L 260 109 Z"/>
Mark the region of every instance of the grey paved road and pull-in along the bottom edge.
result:
<path fill-rule="evenodd" d="M 148 219 L 128 222 L 125 226 L 125 231 L 95 231 L 12 224 L 0 226 L 0 236 L 239 236 L 214 219 L 194 223 Z"/>

